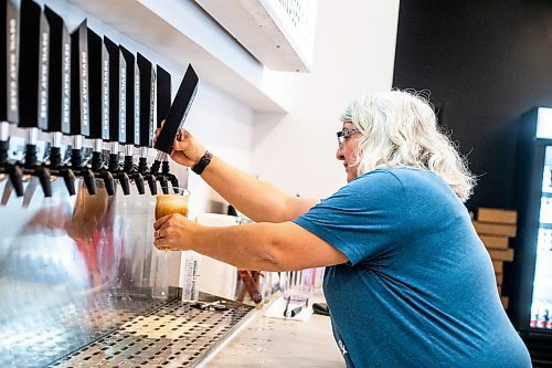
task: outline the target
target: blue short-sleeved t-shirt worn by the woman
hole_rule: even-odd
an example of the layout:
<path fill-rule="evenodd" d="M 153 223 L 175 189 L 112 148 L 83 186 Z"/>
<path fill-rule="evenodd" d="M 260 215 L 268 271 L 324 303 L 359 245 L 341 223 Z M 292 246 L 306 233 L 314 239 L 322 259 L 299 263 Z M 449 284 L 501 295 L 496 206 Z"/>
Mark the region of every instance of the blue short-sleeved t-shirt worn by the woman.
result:
<path fill-rule="evenodd" d="M 349 259 L 323 281 L 348 367 L 531 367 L 489 254 L 435 174 L 373 170 L 294 222 Z"/>

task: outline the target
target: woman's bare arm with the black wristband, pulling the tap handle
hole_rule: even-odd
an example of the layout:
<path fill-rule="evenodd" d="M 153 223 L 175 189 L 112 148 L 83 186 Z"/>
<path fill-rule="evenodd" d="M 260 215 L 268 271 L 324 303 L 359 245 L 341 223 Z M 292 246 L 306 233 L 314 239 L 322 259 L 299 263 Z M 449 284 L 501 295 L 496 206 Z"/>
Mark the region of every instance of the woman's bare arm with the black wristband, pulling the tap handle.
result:
<path fill-rule="evenodd" d="M 182 129 L 174 141 L 171 158 L 188 167 L 198 164 L 205 148 Z M 289 196 L 275 186 L 254 178 L 213 156 L 201 178 L 229 203 L 257 222 L 289 221 L 307 212 L 318 199 Z"/>

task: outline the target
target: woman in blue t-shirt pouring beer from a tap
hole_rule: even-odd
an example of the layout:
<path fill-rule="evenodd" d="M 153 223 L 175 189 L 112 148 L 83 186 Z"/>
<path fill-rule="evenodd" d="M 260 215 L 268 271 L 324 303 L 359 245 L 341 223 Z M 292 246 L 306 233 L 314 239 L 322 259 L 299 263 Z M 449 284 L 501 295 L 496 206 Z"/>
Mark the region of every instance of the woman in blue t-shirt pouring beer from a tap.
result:
<path fill-rule="evenodd" d="M 238 267 L 328 266 L 323 290 L 348 367 L 530 367 L 461 203 L 474 178 L 431 106 L 391 91 L 341 117 L 348 185 L 322 200 L 287 196 L 212 157 L 188 133 L 172 158 L 257 223 L 204 228 L 174 214 L 156 246 Z"/>

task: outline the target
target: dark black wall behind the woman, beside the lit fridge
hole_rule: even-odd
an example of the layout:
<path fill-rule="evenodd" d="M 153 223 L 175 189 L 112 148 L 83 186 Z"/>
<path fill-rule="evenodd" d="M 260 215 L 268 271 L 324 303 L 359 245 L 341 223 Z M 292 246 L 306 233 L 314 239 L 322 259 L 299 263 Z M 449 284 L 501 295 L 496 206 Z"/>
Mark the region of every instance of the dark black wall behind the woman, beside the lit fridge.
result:
<path fill-rule="evenodd" d="M 552 107 L 552 1 L 401 0 L 393 86 L 440 105 L 479 176 L 467 207 L 514 208 L 517 119 Z"/>

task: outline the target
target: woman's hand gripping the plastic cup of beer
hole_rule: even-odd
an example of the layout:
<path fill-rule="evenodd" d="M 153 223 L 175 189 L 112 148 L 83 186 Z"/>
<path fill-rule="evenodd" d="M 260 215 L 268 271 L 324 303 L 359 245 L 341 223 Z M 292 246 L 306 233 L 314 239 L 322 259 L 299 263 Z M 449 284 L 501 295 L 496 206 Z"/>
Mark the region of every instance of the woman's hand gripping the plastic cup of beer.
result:
<path fill-rule="evenodd" d="M 153 245 L 159 250 L 187 251 L 191 249 L 193 232 L 201 227 L 180 213 L 160 218 L 153 223 Z"/>

